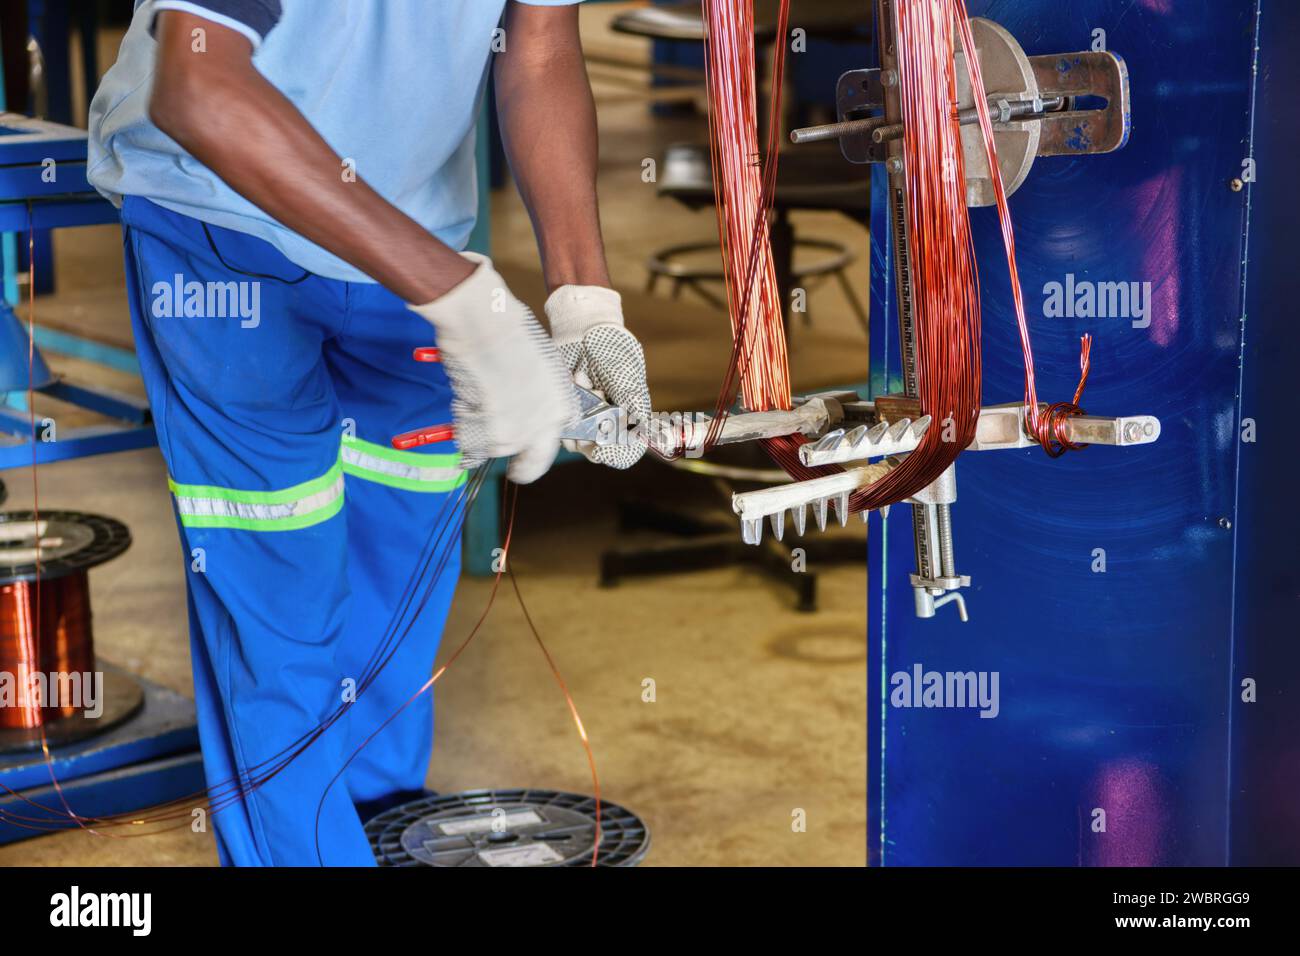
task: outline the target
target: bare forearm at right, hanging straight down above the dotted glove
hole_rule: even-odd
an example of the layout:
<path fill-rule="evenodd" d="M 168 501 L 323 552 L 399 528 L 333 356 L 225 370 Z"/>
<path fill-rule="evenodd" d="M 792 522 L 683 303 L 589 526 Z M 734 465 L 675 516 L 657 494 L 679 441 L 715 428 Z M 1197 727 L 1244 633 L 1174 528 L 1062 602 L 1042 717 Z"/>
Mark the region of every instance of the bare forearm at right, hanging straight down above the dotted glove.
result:
<path fill-rule="evenodd" d="M 504 39 L 495 64 L 497 112 L 546 285 L 608 286 L 595 199 L 595 104 L 577 5 L 512 0 Z"/>

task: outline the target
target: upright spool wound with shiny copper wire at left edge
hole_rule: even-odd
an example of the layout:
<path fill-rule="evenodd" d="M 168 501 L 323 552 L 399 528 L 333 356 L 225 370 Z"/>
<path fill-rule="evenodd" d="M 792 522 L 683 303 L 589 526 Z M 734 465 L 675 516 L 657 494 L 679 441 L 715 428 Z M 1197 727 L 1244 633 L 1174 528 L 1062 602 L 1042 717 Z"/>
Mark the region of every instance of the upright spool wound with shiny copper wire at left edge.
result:
<path fill-rule="evenodd" d="M 130 544 L 101 515 L 0 514 L 0 753 L 82 740 L 143 705 L 129 674 L 96 659 L 91 628 L 87 571 Z"/>

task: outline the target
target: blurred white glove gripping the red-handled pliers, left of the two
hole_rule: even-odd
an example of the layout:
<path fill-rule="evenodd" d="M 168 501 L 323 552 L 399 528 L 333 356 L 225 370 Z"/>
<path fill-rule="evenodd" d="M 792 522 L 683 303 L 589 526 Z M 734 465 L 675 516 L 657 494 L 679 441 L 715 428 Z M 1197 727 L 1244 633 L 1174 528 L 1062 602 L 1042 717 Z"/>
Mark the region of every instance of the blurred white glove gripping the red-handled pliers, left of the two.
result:
<path fill-rule="evenodd" d="M 577 415 L 573 385 L 555 343 L 511 295 L 491 260 L 425 306 L 410 306 L 433 324 L 455 397 L 451 416 L 462 466 L 510 457 L 512 481 L 536 481 L 559 453 L 560 429 Z"/>

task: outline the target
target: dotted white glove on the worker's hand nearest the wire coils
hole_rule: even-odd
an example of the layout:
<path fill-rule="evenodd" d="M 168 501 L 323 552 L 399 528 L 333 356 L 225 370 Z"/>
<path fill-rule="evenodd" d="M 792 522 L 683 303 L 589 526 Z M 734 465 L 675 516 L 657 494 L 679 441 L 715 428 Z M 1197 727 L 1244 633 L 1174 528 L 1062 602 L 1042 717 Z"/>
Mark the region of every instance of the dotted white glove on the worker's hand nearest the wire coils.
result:
<path fill-rule="evenodd" d="M 650 388 L 641 343 L 623 326 L 621 297 L 602 286 L 560 286 L 546 300 L 546 317 L 573 381 L 628 415 L 619 444 L 566 441 L 564 447 L 611 468 L 630 468 L 646 450 L 638 436 L 650 423 Z"/>

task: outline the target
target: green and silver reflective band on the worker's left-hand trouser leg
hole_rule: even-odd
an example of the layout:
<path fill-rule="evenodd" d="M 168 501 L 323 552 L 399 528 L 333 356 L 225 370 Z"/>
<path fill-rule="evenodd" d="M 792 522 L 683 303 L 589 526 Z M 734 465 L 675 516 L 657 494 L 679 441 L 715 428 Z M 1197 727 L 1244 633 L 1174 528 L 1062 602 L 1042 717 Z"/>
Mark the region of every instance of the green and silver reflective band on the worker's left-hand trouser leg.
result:
<path fill-rule="evenodd" d="M 168 479 L 186 528 L 296 531 L 329 520 L 343 507 L 343 467 L 278 492 L 182 485 Z"/>

